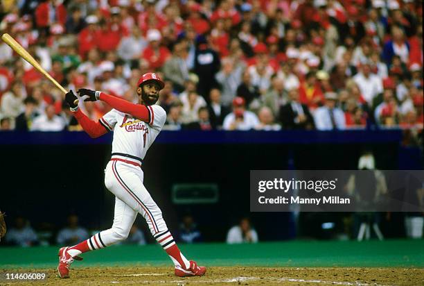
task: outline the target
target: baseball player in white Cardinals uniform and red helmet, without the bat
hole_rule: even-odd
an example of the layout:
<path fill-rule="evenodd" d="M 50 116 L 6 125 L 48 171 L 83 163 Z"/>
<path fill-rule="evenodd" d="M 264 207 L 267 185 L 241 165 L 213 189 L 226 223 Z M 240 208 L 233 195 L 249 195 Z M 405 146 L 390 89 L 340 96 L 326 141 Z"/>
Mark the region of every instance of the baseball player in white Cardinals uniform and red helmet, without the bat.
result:
<path fill-rule="evenodd" d="M 179 251 L 161 210 L 143 185 L 143 158 L 164 126 L 166 112 L 154 104 L 159 98 L 159 90 L 164 88 L 164 82 L 157 74 L 143 74 L 137 86 L 139 104 L 100 91 L 78 90 L 80 96 L 88 96 L 85 101 L 100 100 L 113 108 L 97 122 L 91 121 L 73 103 L 78 98 L 72 91 L 65 96 L 73 115 L 90 137 L 114 131 L 112 158 L 105 169 L 105 185 L 116 198 L 112 228 L 59 250 L 58 271 L 61 278 L 69 278 L 69 267 L 73 260 L 82 260 L 81 253 L 103 249 L 126 239 L 138 213 L 145 218 L 153 237 L 173 260 L 176 276 L 202 276 L 206 272 L 206 267 L 188 261 Z"/>

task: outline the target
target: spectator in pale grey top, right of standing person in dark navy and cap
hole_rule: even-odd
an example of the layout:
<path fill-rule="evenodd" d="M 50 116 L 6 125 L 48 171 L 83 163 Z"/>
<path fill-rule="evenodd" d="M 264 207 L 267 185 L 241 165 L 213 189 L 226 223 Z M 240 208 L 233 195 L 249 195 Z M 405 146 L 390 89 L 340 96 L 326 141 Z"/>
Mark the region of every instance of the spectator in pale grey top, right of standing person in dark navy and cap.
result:
<path fill-rule="evenodd" d="M 215 78 L 221 86 L 222 104 L 224 106 L 230 106 L 234 96 L 236 96 L 244 68 L 244 63 L 236 64 L 233 58 L 222 59 L 221 69 Z"/>

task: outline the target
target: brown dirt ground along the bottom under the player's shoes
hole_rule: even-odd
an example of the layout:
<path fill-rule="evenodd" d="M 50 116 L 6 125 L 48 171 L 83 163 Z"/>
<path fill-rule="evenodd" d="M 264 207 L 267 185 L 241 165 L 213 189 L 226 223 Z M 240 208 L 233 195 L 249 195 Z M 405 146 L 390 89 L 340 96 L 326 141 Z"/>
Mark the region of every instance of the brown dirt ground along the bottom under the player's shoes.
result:
<path fill-rule="evenodd" d="M 0 285 L 423 285 L 424 269 L 209 267 L 202 277 L 179 278 L 170 267 L 87 267 L 58 278 L 55 269 L 8 270 L 46 273 L 46 280 L 5 280 Z"/>

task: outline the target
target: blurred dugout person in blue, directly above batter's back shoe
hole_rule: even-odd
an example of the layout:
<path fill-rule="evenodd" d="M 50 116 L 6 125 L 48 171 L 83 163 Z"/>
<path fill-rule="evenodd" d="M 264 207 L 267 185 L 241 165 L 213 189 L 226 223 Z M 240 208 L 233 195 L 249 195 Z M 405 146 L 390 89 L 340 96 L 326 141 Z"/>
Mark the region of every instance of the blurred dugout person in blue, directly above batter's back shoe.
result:
<path fill-rule="evenodd" d="M 56 242 L 59 245 L 74 245 L 88 237 L 87 230 L 78 225 L 78 216 L 76 214 L 69 214 L 67 217 L 67 226 L 59 231 Z"/>

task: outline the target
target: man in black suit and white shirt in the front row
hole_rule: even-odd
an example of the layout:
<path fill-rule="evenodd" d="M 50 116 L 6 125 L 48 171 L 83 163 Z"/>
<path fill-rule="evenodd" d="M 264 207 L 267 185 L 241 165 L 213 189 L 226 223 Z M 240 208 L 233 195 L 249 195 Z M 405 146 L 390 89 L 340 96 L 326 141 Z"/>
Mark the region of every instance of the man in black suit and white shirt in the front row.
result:
<path fill-rule="evenodd" d="M 299 90 L 288 92 L 290 101 L 280 108 L 280 121 L 285 129 L 314 129 L 315 123 L 308 106 L 299 101 Z"/>

